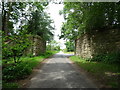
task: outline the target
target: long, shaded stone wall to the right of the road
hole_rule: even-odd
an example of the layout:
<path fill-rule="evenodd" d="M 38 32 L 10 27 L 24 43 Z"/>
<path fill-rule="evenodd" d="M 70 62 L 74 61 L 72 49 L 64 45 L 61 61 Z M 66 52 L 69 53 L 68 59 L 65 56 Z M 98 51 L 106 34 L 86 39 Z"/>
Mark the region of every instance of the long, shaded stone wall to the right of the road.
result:
<path fill-rule="evenodd" d="M 75 54 L 83 58 L 92 58 L 96 54 L 120 51 L 120 30 L 94 30 L 76 39 Z"/>

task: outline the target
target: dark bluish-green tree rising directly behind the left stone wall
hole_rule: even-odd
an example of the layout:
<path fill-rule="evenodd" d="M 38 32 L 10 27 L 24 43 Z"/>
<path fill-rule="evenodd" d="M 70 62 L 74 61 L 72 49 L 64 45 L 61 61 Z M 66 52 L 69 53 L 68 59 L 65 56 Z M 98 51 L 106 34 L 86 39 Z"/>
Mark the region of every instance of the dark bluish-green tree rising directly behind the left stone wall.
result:
<path fill-rule="evenodd" d="M 32 13 L 32 19 L 29 21 L 28 33 L 39 35 L 44 40 L 51 40 L 53 38 L 51 30 L 54 29 L 50 25 L 51 23 L 52 20 L 46 13 L 36 10 Z"/>

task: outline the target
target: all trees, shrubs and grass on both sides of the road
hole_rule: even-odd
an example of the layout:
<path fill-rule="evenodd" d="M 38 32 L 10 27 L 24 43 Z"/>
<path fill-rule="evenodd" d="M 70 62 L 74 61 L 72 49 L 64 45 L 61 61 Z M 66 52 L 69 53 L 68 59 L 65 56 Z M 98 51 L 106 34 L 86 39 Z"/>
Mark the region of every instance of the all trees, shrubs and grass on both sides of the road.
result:
<path fill-rule="evenodd" d="M 31 45 L 30 35 L 38 35 L 45 43 L 48 42 L 47 50 L 60 50 L 58 43 L 52 40 L 53 21 L 45 11 L 48 4 L 48 2 L 2 2 L 0 14 L 2 13 L 3 87 L 18 87 L 14 81 L 27 77 L 39 62 L 53 54 L 46 52 L 33 57 L 32 53 L 30 57 L 27 55 L 23 57 L 24 51 Z M 120 29 L 119 4 L 120 2 L 64 2 L 62 13 L 66 21 L 63 23 L 60 38 L 67 40 L 67 51 L 74 51 L 75 40 L 86 32 Z M 99 54 L 87 60 L 78 57 L 71 59 L 94 75 L 105 76 L 107 82 L 113 84 L 113 87 L 118 87 L 116 75 L 119 74 L 117 64 L 120 63 L 120 53 Z M 115 80 L 108 78 L 106 72 L 110 72 L 110 75 L 115 73 Z"/>

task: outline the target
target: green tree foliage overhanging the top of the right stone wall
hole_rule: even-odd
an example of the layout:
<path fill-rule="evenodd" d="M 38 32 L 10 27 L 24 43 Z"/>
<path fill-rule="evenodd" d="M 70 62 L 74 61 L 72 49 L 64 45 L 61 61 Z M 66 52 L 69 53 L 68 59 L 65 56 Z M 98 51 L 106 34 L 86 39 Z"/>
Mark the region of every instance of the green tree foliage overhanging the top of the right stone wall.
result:
<path fill-rule="evenodd" d="M 120 2 L 65 2 L 60 38 L 74 40 L 93 30 L 120 28 Z"/>

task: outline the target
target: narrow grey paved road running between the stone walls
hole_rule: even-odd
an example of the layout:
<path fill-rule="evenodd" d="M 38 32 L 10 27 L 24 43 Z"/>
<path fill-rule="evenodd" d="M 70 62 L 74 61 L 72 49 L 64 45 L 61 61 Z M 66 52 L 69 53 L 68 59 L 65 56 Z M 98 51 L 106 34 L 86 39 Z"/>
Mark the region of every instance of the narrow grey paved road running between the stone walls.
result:
<path fill-rule="evenodd" d="M 30 80 L 28 88 L 96 88 L 72 65 L 70 54 L 57 53 Z"/>

